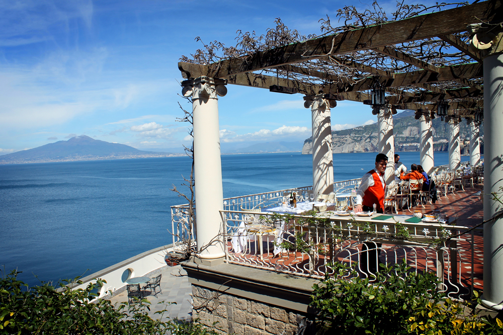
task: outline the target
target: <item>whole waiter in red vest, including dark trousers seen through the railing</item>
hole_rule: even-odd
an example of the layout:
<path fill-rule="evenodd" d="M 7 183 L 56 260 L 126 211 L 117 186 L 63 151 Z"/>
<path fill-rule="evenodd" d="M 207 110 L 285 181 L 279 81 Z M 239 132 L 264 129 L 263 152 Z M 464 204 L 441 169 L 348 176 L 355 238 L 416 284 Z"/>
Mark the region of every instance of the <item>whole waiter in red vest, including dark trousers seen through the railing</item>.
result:
<path fill-rule="evenodd" d="M 376 205 L 377 213 L 384 212 L 384 197 L 386 183 L 384 182 L 384 171 L 388 164 L 388 156 L 379 153 L 376 156 L 376 167 L 362 177 L 362 184 L 356 191 L 355 212 L 373 211 Z M 376 273 L 379 271 L 379 254 L 381 253 L 381 243 L 374 241 L 363 242 L 360 257 L 360 269 L 374 281 Z"/>

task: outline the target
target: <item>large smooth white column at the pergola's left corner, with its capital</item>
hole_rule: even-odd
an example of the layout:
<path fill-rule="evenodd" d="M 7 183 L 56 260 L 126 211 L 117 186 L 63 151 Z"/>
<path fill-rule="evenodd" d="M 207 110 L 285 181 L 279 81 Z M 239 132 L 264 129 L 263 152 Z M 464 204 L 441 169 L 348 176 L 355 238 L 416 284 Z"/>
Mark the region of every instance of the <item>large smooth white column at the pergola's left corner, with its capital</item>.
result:
<path fill-rule="evenodd" d="M 227 88 L 225 81 L 215 80 L 198 77 L 182 82 L 183 95 L 192 97 L 197 256 L 208 260 L 225 256 L 220 235 L 223 189 L 217 95 L 223 97 Z"/>

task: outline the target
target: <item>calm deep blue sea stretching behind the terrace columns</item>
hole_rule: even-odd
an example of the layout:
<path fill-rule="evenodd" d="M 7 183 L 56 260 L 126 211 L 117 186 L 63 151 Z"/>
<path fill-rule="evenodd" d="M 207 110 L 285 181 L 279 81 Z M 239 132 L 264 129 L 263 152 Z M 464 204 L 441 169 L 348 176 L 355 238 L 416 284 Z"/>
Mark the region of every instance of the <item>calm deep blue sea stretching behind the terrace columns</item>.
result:
<path fill-rule="evenodd" d="M 417 151 L 399 154 L 406 166 L 419 163 Z M 362 177 L 375 155 L 334 154 L 334 181 Z M 312 184 L 311 155 L 221 159 L 224 197 Z M 435 165 L 447 163 L 447 152 L 435 152 Z M 0 165 L 0 275 L 56 284 L 170 244 L 170 206 L 186 203 L 170 189 L 188 192 L 190 166 L 183 156 Z"/>

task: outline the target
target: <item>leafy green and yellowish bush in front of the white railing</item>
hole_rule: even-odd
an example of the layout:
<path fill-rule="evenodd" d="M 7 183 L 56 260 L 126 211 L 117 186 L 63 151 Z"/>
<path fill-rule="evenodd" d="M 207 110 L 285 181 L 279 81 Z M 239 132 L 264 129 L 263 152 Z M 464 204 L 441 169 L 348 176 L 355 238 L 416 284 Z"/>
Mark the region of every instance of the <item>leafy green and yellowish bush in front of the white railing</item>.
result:
<path fill-rule="evenodd" d="M 320 332 L 341 334 L 501 334 L 499 319 L 478 317 L 474 309 L 445 299 L 433 273 L 410 271 L 406 263 L 381 265 L 376 278 L 362 279 L 345 265 L 333 267 L 313 286 Z M 345 279 L 345 277 L 347 279 Z"/>

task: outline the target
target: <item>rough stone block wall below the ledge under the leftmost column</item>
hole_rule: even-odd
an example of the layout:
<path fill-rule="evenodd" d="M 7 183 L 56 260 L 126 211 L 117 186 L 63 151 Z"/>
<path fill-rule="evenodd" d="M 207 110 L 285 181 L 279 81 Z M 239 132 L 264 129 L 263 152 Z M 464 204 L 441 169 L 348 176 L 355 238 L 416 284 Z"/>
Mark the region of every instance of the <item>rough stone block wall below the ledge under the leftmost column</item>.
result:
<path fill-rule="evenodd" d="M 296 311 L 192 285 L 193 318 L 222 334 L 303 334 L 309 324 Z"/>

